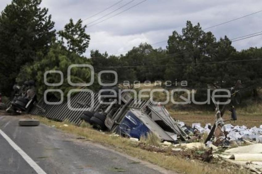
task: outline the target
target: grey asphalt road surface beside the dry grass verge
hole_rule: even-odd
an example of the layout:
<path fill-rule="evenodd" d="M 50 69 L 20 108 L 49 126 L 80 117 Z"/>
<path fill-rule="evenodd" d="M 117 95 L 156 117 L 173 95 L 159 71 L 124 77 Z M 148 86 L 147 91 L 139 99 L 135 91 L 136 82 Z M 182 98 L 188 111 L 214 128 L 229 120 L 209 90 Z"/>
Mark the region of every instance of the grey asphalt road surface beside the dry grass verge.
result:
<path fill-rule="evenodd" d="M 40 124 L 18 126 L 18 116 L 0 116 L 0 130 L 47 174 L 170 173 L 163 168 Z M 8 138 L 7 138 L 8 139 Z M 0 173 L 41 173 L 0 134 Z"/>

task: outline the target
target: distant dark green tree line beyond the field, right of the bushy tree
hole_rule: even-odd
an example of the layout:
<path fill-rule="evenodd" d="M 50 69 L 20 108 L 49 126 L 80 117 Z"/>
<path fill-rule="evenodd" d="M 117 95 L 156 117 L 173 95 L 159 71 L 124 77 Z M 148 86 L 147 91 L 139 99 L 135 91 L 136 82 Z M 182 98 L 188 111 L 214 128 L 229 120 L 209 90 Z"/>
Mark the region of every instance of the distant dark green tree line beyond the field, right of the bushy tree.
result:
<path fill-rule="evenodd" d="M 216 39 L 199 23 L 194 26 L 190 21 L 182 34 L 173 31 L 166 49 L 141 43 L 120 56 L 92 51 L 91 59 L 97 72 L 114 70 L 120 82 L 172 81 L 177 87 L 174 82 L 187 81 L 190 89 L 228 89 L 241 80 L 241 88 L 255 97 L 261 87 L 261 48 L 237 51 L 227 36 Z M 114 77 L 108 75 L 105 79 L 113 81 Z"/>

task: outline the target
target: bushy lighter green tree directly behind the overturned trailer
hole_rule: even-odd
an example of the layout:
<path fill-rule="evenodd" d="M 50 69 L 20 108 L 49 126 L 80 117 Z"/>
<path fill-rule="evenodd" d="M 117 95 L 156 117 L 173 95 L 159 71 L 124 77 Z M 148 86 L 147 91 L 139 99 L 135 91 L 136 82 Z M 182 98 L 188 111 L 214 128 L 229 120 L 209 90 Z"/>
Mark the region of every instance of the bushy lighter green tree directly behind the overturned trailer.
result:
<path fill-rule="evenodd" d="M 79 56 L 74 52 L 68 52 L 61 43 L 54 43 L 47 55 L 40 57 L 39 61 L 35 61 L 32 65 L 23 66 L 16 81 L 18 84 L 21 84 L 26 80 L 34 79 L 38 97 L 42 97 L 46 89 L 61 89 L 66 97 L 70 89 L 83 88 L 82 86 L 71 86 L 68 84 L 68 67 L 72 64 L 90 63 L 90 60 L 86 57 Z M 47 86 L 44 84 L 44 73 L 50 70 L 59 70 L 63 73 L 64 81 L 61 86 Z M 70 77 L 73 83 L 88 83 L 90 82 L 91 71 L 87 67 L 74 67 L 71 69 Z M 61 77 L 58 73 L 49 73 L 47 76 L 48 83 L 59 83 L 60 79 Z M 98 87 L 96 79 L 94 84 L 88 87 L 89 89 Z M 56 96 L 59 98 L 60 94 Z"/>

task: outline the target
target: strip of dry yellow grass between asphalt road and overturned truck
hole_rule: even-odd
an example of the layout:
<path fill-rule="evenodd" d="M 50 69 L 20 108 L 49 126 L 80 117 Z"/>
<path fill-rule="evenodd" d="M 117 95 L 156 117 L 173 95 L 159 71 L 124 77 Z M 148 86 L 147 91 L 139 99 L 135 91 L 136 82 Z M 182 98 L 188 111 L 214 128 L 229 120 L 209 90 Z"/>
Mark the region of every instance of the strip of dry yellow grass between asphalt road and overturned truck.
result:
<path fill-rule="evenodd" d="M 180 156 L 168 156 L 165 153 L 154 153 L 141 149 L 137 143 L 134 143 L 126 138 L 117 137 L 117 136 L 109 136 L 108 133 L 102 134 L 99 131 L 96 131 L 90 127 L 81 126 L 78 127 L 76 125 L 68 124 L 68 126 L 63 126 L 65 123 L 56 122 L 48 120 L 47 118 L 31 116 L 36 119 L 39 119 L 42 123 L 52 126 L 54 125 L 56 128 L 61 129 L 65 132 L 73 133 L 78 136 L 83 136 L 86 140 L 90 140 L 92 142 L 100 143 L 103 145 L 110 146 L 117 151 L 126 153 L 130 156 L 137 157 L 141 160 L 149 161 L 153 164 L 157 164 L 158 166 L 164 167 L 169 170 L 183 172 L 183 173 L 192 173 L 192 174 L 211 174 L 211 173 L 220 173 L 227 174 L 230 173 L 249 173 L 248 170 L 242 169 L 240 170 L 238 167 L 231 166 L 230 169 L 228 167 L 221 168 L 218 164 L 210 164 L 203 163 L 200 161 L 186 160 Z M 228 165 L 228 164 L 227 164 Z"/>

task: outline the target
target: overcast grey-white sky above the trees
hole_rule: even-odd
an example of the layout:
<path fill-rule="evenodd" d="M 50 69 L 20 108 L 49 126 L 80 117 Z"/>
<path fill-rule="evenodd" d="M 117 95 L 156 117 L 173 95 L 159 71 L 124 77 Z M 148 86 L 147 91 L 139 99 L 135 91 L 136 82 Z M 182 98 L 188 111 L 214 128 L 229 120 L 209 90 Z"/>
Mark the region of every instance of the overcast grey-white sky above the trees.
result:
<path fill-rule="evenodd" d="M 41 6 L 49 9 L 49 14 L 52 14 L 52 20 L 55 21 L 55 29 L 61 30 L 70 18 L 74 21 L 79 18 L 86 19 L 119 1 L 43 0 Z M 84 20 L 84 24 L 110 13 L 130 1 L 122 0 L 103 13 Z M 105 18 L 141 1 L 134 0 Z M 0 10 L 2 11 L 10 2 L 11 0 L 1 0 Z M 181 33 L 181 29 L 185 26 L 187 20 L 193 22 L 194 25 L 199 22 L 203 28 L 206 28 L 259 10 L 262 10 L 262 1 L 260 0 L 147 0 L 124 13 L 88 27 L 86 32 L 91 35 L 91 41 L 85 55 L 89 57 L 92 49 L 99 49 L 100 52 L 107 51 L 111 54 L 129 50 L 141 42 L 152 44 L 167 40 L 172 31 L 176 30 Z M 262 12 L 209 30 L 213 32 L 216 38 L 224 35 L 227 35 L 229 38 L 236 38 L 260 32 L 262 31 L 261 16 Z M 100 21 L 105 18 L 100 19 Z M 255 46 L 261 47 L 261 38 L 262 35 L 233 42 L 233 45 L 238 50 Z M 166 42 L 153 46 L 155 48 L 166 48 Z"/>

